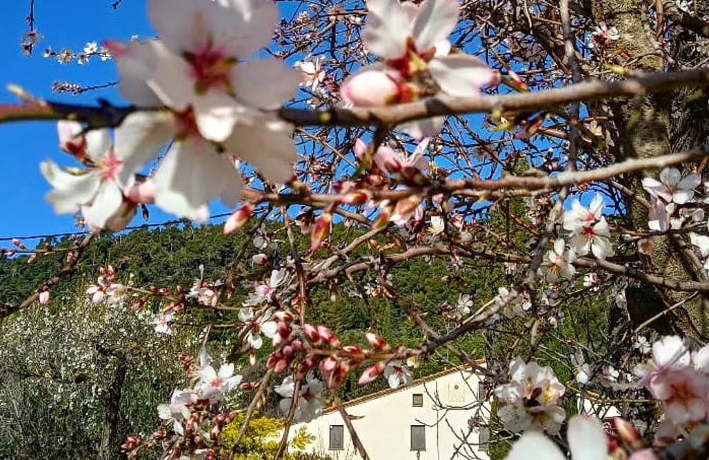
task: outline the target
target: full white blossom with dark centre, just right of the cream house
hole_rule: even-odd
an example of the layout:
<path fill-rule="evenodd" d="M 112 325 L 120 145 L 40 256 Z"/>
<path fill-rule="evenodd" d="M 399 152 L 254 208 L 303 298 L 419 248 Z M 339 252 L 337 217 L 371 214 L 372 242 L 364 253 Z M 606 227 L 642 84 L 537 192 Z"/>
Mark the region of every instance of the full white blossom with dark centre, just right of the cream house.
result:
<path fill-rule="evenodd" d="M 538 427 L 556 435 L 566 418 L 566 411 L 558 406 L 565 389 L 552 369 L 518 357 L 510 363 L 510 377 L 509 384 L 495 389 L 496 396 L 506 403 L 498 412 L 505 428 L 521 432 Z"/>

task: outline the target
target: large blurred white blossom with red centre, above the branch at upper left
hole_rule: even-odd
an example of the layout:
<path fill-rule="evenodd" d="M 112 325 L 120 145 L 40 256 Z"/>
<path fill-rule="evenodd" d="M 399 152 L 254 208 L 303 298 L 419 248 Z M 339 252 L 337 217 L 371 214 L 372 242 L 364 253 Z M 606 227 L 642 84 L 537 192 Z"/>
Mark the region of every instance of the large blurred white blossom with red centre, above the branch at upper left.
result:
<path fill-rule="evenodd" d="M 206 139 L 224 142 L 236 123 L 293 96 L 294 69 L 242 60 L 271 41 L 279 21 L 271 1 L 150 0 L 147 14 L 164 43 L 147 85 L 169 108 L 191 108 Z"/>

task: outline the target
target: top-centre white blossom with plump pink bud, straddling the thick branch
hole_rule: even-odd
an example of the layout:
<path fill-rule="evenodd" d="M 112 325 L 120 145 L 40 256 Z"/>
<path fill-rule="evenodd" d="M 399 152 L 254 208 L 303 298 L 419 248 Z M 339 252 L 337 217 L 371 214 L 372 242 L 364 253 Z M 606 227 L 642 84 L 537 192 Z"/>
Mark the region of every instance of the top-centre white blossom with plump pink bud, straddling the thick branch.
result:
<path fill-rule="evenodd" d="M 403 103 L 438 89 L 451 96 L 477 96 L 496 73 L 468 54 L 450 54 L 448 35 L 458 21 L 454 0 L 427 0 L 419 6 L 398 0 L 367 1 L 362 40 L 384 59 L 359 69 L 342 84 L 342 98 L 354 105 Z M 426 88 L 426 86 L 429 88 Z M 421 139 L 440 131 L 445 118 L 434 117 L 400 128 Z"/>

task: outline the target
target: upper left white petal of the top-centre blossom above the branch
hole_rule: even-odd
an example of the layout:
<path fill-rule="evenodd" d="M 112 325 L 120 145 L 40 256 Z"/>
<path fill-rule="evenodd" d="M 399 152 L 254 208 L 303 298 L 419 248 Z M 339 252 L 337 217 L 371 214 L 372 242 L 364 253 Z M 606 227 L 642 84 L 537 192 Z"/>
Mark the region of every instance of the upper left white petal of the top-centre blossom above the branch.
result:
<path fill-rule="evenodd" d="M 411 35 L 411 21 L 399 0 L 368 0 L 367 24 L 362 41 L 369 52 L 384 59 L 406 54 L 406 40 Z"/>

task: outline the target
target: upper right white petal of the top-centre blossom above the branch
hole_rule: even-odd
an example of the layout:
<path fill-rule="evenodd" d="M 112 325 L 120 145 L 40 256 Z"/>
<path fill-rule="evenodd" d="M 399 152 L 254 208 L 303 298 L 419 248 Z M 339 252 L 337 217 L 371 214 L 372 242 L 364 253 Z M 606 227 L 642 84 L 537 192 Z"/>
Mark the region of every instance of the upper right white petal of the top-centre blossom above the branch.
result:
<path fill-rule="evenodd" d="M 455 0 L 425 0 L 420 4 L 413 23 L 413 38 L 420 52 L 448 38 L 458 23 L 459 9 Z"/>

